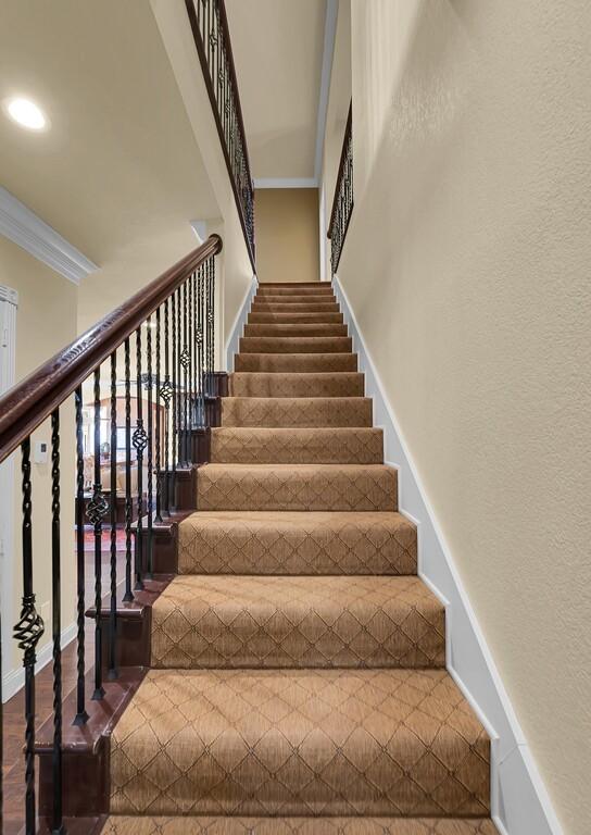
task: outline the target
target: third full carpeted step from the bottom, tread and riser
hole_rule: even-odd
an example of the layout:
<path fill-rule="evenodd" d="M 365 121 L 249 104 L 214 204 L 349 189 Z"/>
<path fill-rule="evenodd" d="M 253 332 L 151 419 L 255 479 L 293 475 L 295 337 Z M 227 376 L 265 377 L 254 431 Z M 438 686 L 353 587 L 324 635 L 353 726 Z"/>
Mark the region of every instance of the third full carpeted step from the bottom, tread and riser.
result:
<path fill-rule="evenodd" d="M 200 511 L 178 548 L 184 574 L 416 573 L 416 528 L 397 512 Z"/>

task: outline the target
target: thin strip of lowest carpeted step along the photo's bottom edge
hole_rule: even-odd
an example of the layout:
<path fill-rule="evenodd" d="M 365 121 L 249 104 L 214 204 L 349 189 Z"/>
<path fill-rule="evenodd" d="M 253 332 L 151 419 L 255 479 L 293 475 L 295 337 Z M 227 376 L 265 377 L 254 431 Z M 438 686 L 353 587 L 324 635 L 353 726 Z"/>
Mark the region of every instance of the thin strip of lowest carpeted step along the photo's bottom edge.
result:
<path fill-rule="evenodd" d="M 485 818 L 111 815 L 102 835 L 498 835 Z"/>

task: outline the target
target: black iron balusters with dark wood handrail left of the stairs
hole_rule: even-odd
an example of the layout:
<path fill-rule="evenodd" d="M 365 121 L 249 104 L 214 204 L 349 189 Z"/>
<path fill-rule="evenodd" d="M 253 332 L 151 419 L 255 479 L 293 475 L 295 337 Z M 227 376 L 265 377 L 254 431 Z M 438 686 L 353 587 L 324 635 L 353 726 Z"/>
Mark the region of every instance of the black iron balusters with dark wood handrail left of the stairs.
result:
<path fill-rule="evenodd" d="M 26 835 L 37 831 L 39 814 L 35 756 L 41 749 L 36 741 L 35 666 L 37 646 L 46 631 L 36 603 L 34 558 L 36 562 L 47 559 L 45 550 L 34 553 L 35 510 L 41 501 L 37 496 L 42 491 L 36 493 L 40 485 L 36 484 L 37 477 L 32 472 L 32 433 L 45 420 L 50 420 L 51 524 L 47 534 L 52 575 L 53 722 L 52 738 L 46 750 L 48 757 L 45 764 L 41 763 L 41 771 L 46 769 L 46 777 L 49 773 L 45 784 L 49 782 L 51 786 L 51 798 L 49 803 L 46 802 L 50 809 L 49 828 L 53 833 L 63 833 L 62 734 L 66 722 L 70 728 L 78 726 L 84 741 L 87 738 L 84 734 L 91 733 L 87 726 L 90 703 L 101 702 L 106 683 L 120 675 L 122 608 L 133 607 L 144 585 L 150 585 L 149 579 L 154 573 L 154 535 L 159 524 L 174 515 L 179 504 L 177 482 L 184 473 L 194 469 L 196 436 L 209 432 L 218 408 L 216 386 L 221 375 L 214 372 L 215 256 L 221 250 L 222 239 L 211 236 L 0 398 L 0 462 L 18 448 L 21 457 L 23 594 L 14 637 L 23 653 L 25 670 L 23 820 Z M 120 373 L 123 375 L 121 381 Z M 135 401 L 131 397 L 134 385 Z M 74 400 L 74 420 L 67 425 L 64 418 L 68 412 L 64 406 L 71 399 Z M 212 401 L 215 403 L 213 409 Z M 89 441 L 86 449 L 85 428 L 87 446 Z M 124 451 L 124 490 L 117 490 L 117 449 Z M 75 495 L 70 493 L 70 484 L 65 489 L 62 484 L 64 452 L 70 452 L 76 460 Z M 91 479 L 85 463 L 90 464 Z M 135 479 L 133 470 L 136 471 Z M 120 523 L 117 497 L 124 504 L 123 522 Z M 77 681 L 73 707 L 66 716 L 60 613 L 61 569 L 71 533 L 62 536 L 60 519 L 64 501 L 74 500 Z M 125 541 L 121 569 L 117 565 L 118 524 Z M 85 528 L 88 525 L 95 558 L 93 606 L 90 610 L 85 601 Z M 108 535 L 110 557 L 106 583 L 103 582 L 101 560 L 103 533 Z M 91 681 L 85 675 L 85 625 L 89 618 L 93 620 Z M 104 711 L 106 715 L 106 707 Z M 1 720 L 0 711 L 0 752 Z M 3 831 L 1 781 L 0 772 L 0 833 Z M 68 792 L 73 790 L 70 785 Z M 91 790 L 90 785 L 83 786 L 84 793 Z"/>

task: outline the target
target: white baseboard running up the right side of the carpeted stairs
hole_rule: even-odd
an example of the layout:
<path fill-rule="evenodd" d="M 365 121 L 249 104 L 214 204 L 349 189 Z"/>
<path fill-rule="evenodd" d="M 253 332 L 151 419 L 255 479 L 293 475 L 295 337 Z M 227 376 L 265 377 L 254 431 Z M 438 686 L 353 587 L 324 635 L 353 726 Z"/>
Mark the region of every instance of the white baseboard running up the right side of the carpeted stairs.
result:
<path fill-rule="evenodd" d="M 400 510 L 417 524 L 419 576 L 445 605 L 448 670 L 491 737 L 492 818 L 502 835 L 562 835 L 449 546 L 337 276 L 334 286 L 353 337 L 353 349 L 359 354 L 360 371 L 365 373 L 366 396 L 374 399 L 374 424 L 383 429 L 385 458 L 399 471 Z"/>

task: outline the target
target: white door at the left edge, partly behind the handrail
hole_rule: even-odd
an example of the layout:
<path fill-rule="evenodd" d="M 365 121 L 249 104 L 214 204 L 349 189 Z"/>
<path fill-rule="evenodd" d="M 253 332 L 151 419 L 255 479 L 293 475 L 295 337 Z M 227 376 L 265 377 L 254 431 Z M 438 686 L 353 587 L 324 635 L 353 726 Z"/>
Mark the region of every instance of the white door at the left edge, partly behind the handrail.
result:
<path fill-rule="evenodd" d="M 0 285 L 0 396 L 14 384 L 16 290 Z M 12 678 L 14 623 L 14 453 L 0 464 L 0 614 L 2 616 L 2 685 Z M 11 691 L 2 686 L 2 701 Z"/>

